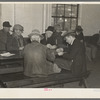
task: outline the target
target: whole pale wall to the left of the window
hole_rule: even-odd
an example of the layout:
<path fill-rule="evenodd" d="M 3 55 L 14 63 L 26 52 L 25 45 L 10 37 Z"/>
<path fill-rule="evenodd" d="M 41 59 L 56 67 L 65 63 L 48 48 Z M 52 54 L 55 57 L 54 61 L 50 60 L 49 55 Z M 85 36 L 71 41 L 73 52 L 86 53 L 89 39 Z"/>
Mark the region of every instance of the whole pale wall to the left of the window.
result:
<path fill-rule="evenodd" d="M 12 25 L 21 24 L 24 27 L 24 37 L 33 29 L 43 33 L 51 23 L 50 7 L 44 4 L 2 4 L 0 28 L 2 22 L 9 21 Z"/>

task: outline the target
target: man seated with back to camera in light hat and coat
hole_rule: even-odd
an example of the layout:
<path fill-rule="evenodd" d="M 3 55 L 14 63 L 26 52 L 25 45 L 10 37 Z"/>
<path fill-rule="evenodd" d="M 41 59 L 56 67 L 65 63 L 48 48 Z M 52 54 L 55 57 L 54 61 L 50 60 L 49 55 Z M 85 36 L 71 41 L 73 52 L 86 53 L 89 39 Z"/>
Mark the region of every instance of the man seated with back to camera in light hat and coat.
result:
<path fill-rule="evenodd" d="M 35 29 L 29 35 L 31 42 L 24 48 L 24 75 L 29 77 L 45 77 L 49 74 L 58 73 L 55 71 L 55 55 L 45 45 L 40 43 L 43 38 L 39 30 Z M 56 66 L 57 68 L 57 66 Z"/>

